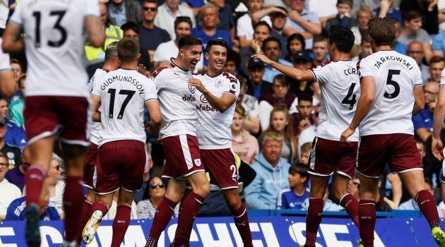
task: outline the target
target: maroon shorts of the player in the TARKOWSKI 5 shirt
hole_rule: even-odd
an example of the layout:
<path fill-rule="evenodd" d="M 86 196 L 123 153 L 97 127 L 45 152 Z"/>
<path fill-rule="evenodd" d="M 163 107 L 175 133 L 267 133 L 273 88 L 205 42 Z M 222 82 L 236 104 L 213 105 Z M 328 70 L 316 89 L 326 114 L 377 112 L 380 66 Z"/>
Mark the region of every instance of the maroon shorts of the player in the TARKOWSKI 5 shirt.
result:
<path fill-rule="evenodd" d="M 360 137 L 357 171 L 378 178 L 386 164 L 393 173 L 423 169 L 414 135 L 397 133 Z"/>

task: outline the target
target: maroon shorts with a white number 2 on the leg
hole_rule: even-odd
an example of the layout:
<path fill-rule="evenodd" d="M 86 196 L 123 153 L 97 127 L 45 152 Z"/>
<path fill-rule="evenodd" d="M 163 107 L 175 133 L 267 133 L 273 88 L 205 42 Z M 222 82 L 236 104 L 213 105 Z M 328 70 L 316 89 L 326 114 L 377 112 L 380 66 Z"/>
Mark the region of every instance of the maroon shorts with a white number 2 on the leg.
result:
<path fill-rule="evenodd" d="M 201 159 L 206 164 L 210 183 L 220 186 L 222 190 L 238 188 L 238 168 L 232 149 L 201 149 Z"/>

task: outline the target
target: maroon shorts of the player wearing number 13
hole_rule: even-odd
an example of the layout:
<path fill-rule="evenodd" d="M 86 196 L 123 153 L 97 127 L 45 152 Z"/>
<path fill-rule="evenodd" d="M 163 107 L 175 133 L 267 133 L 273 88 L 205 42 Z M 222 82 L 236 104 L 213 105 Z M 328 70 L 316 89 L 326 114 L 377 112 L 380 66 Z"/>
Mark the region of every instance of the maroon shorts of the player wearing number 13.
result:
<path fill-rule="evenodd" d="M 59 134 L 64 143 L 88 147 L 90 142 L 90 102 L 87 97 L 26 97 L 25 117 L 28 145 Z"/>

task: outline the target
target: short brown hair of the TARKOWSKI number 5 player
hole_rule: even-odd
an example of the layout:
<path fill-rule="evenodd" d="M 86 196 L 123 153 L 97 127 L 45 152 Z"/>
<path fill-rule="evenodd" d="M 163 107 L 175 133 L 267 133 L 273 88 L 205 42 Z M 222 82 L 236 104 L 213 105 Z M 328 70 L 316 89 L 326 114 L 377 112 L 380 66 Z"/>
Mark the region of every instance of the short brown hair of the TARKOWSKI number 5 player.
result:
<path fill-rule="evenodd" d="M 397 29 L 392 20 L 386 17 L 374 17 L 369 19 L 368 33 L 376 46 L 392 46 L 394 40 L 396 40 Z"/>

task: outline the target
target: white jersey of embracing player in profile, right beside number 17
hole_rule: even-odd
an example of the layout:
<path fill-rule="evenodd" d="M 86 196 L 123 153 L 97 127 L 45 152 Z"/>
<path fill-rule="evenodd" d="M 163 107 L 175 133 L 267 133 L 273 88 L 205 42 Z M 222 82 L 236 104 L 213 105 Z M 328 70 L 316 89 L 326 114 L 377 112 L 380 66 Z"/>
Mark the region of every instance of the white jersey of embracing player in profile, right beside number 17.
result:
<path fill-rule="evenodd" d="M 158 68 L 152 74 L 164 119 L 160 135 L 162 138 L 187 134 L 196 136 L 196 88 L 189 85 L 193 74 L 174 64 L 172 66 Z"/>

